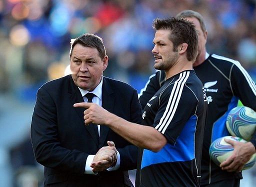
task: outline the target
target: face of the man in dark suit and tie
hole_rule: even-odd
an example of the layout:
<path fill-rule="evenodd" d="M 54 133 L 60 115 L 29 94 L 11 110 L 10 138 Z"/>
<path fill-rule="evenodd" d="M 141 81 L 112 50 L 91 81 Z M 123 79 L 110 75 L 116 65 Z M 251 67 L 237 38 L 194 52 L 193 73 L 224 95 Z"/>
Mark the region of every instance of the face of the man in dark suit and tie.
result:
<path fill-rule="evenodd" d="M 100 82 L 107 60 L 107 56 L 101 59 L 96 48 L 75 44 L 70 57 L 70 70 L 75 85 L 92 91 Z"/>

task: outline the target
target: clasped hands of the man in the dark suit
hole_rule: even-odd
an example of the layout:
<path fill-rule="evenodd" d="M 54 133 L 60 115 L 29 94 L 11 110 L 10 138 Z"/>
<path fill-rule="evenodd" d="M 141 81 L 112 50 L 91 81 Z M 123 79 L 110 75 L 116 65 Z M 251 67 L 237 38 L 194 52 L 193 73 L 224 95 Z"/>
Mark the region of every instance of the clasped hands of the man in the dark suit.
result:
<path fill-rule="evenodd" d="M 117 150 L 113 141 L 107 141 L 108 146 L 101 147 L 94 156 L 90 167 L 93 172 L 107 169 L 114 165 L 117 159 Z"/>

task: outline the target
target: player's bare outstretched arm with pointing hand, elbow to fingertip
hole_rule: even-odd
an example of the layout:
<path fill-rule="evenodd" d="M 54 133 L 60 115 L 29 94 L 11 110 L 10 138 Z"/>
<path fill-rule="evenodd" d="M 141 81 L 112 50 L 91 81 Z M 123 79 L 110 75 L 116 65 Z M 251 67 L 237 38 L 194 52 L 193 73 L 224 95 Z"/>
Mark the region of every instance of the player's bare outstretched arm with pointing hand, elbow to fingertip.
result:
<path fill-rule="evenodd" d="M 138 147 L 159 151 L 167 142 L 164 135 L 155 128 L 129 122 L 95 103 L 80 102 L 75 103 L 74 107 L 87 108 L 83 117 L 85 124 L 92 122 L 107 125 L 114 132 Z"/>

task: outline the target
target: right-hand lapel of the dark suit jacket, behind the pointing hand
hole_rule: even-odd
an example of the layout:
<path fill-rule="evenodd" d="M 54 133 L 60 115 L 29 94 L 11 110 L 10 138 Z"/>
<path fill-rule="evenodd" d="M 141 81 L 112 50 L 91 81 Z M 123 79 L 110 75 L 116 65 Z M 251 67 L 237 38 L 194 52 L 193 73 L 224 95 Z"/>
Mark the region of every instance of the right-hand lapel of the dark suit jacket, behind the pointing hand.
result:
<path fill-rule="evenodd" d="M 113 112 L 115 97 L 113 94 L 113 90 L 108 83 L 108 79 L 103 76 L 102 82 L 102 107 L 109 112 Z M 105 125 L 100 125 L 99 132 L 99 147 L 104 145 L 104 142 L 107 137 L 109 128 Z"/>

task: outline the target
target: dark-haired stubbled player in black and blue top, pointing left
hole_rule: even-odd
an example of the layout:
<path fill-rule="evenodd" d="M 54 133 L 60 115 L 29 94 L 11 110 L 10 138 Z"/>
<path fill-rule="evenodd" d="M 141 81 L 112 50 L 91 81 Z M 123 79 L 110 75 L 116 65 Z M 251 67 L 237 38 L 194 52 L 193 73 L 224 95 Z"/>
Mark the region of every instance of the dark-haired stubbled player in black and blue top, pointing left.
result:
<path fill-rule="evenodd" d="M 197 52 L 194 26 L 181 18 L 155 19 L 154 68 L 166 81 L 146 104 L 142 124 L 129 122 L 95 103 L 75 103 L 85 124 L 106 125 L 144 148 L 141 186 L 199 186 L 206 97 L 192 70 Z"/>

